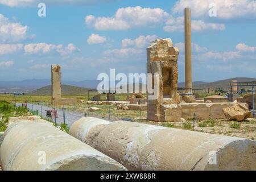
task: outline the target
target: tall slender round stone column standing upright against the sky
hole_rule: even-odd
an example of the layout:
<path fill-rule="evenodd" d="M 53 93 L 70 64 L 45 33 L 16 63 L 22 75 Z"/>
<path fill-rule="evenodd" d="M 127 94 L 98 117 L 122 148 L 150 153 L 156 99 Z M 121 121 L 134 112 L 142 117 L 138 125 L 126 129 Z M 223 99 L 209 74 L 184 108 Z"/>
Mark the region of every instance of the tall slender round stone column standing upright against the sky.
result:
<path fill-rule="evenodd" d="M 192 93 L 191 10 L 185 9 L 185 91 Z"/>

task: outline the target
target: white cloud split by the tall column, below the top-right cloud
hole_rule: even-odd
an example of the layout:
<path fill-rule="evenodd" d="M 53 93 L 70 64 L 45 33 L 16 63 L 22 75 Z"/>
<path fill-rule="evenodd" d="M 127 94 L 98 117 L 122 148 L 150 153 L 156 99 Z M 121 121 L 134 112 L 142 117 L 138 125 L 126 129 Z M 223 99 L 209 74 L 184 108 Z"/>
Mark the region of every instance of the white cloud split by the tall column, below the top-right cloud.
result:
<path fill-rule="evenodd" d="M 163 28 L 166 32 L 180 31 L 184 32 L 184 16 L 177 18 L 171 17 L 166 22 L 166 26 Z M 195 32 L 200 31 L 221 31 L 225 30 L 225 24 L 223 23 L 205 23 L 203 20 L 191 20 L 191 30 Z"/>

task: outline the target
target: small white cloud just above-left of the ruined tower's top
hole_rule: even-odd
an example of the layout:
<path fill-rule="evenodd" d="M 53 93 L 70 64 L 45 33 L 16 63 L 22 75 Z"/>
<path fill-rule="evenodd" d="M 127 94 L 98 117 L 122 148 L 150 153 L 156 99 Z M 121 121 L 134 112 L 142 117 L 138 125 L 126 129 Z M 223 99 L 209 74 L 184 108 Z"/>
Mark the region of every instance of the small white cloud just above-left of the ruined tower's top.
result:
<path fill-rule="evenodd" d="M 158 36 L 156 35 L 141 35 L 137 39 L 131 40 L 131 39 L 123 39 L 122 40 L 122 47 L 138 47 L 138 48 L 145 48 L 147 46 L 150 46 L 150 43 L 154 41 Z"/>

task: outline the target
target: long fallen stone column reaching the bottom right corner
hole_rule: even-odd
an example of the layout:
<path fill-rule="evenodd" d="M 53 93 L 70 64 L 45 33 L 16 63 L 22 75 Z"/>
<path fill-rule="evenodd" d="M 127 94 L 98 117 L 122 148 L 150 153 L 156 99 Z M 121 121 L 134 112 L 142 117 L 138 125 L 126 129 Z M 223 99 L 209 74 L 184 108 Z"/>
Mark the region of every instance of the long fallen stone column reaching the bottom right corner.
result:
<path fill-rule="evenodd" d="M 80 137 L 95 121 L 83 118 L 70 133 L 130 170 L 256 169 L 256 142 L 250 139 L 100 119 Z"/>

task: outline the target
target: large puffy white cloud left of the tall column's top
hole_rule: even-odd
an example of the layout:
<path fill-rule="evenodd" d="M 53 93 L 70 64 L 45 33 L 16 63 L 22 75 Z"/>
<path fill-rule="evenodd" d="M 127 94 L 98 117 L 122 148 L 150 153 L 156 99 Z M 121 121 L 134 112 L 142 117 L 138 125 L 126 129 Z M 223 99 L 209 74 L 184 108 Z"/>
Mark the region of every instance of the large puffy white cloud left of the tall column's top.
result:
<path fill-rule="evenodd" d="M 117 10 L 112 17 L 85 17 L 85 24 L 96 30 L 127 30 L 131 27 L 152 27 L 161 22 L 166 22 L 170 15 L 159 8 L 150 9 L 136 7 L 125 7 Z"/>

